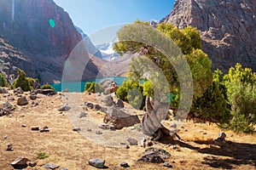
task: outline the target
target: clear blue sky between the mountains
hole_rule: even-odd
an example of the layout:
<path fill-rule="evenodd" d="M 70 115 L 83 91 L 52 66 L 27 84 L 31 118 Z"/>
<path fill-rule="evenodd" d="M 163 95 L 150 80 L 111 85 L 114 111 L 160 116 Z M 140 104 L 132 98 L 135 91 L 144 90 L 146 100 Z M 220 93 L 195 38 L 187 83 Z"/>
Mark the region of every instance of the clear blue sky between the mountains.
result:
<path fill-rule="evenodd" d="M 174 0 L 54 0 L 84 33 L 134 20 L 161 20 L 172 11 Z"/>

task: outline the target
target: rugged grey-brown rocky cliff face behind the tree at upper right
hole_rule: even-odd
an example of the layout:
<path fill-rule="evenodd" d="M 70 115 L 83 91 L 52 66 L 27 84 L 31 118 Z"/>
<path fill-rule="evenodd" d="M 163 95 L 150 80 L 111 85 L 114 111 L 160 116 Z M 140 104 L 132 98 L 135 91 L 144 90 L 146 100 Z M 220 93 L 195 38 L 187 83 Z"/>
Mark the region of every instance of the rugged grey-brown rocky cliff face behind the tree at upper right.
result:
<path fill-rule="evenodd" d="M 256 71 L 255 0 L 177 0 L 161 22 L 201 31 L 213 69 L 228 71 L 237 62 Z"/>

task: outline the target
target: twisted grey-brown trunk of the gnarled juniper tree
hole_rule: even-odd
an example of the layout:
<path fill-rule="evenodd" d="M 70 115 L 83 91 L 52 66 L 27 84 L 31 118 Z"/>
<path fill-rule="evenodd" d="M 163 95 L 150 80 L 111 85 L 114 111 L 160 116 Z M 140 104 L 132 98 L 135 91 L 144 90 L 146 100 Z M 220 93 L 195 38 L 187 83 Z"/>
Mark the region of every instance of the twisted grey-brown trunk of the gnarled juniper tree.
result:
<path fill-rule="evenodd" d="M 142 130 L 148 136 L 153 136 L 154 140 L 160 140 L 163 137 L 172 136 L 170 130 L 161 124 L 161 121 L 166 119 L 169 110 L 169 104 L 162 103 L 157 100 L 150 101 L 146 98 L 147 113 L 143 116 Z M 180 137 L 174 133 L 177 139 Z"/>

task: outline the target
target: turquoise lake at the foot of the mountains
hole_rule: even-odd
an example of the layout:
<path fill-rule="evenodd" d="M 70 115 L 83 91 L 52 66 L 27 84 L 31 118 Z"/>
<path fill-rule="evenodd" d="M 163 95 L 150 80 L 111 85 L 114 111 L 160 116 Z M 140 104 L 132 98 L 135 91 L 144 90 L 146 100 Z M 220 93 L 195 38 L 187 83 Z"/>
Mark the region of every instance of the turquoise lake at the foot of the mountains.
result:
<path fill-rule="evenodd" d="M 88 79 L 84 82 L 61 82 L 61 83 L 55 83 L 50 84 L 53 88 L 55 88 L 55 91 L 61 92 L 63 89 L 68 89 L 69 92 L 84 92 L 84 86 L 86 82 L 102 82 L 103 80 L 112 80 L 113 82 L 116 82 L 118 85 L 121 85 L 127 77 L 107 77 L 107 78 L 99 78 L 99 79 Z"/>

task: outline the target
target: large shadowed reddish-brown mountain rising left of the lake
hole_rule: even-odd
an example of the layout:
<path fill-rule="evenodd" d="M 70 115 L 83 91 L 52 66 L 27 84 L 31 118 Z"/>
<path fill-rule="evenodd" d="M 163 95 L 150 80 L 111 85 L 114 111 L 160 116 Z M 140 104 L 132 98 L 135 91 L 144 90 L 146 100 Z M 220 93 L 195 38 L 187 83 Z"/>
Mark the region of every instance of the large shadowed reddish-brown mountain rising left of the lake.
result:
<path fill-rule="evenodd" d="M 69 54 L 82 41 L 67 12 L 52 0 L 0 0 L 0 7 L 0 71 L 10 82 L 17 68 L 41 82 L 60 82 Z M 72 59 L 79 57 L 88 61 L 80 78 L 96 77 L 85 48 Z"/>

